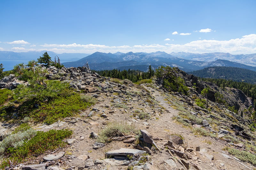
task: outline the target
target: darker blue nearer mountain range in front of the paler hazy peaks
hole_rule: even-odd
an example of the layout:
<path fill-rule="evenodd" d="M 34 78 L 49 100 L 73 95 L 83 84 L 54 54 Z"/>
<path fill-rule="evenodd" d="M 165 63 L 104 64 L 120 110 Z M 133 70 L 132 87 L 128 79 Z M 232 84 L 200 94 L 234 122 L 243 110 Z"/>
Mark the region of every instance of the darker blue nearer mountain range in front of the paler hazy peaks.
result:
<path fill-rule="evenodd" d="M 177 53 L 176 53 L 177 54 Z M 215 53 L 214 53 L 215 54 Z M 226 53 L 224 53 L 226 54 Z M 229 54 L 230 55 L 230 54 Z M 92 55 L 88 55 L 75 62 L 63 63 L 66 67 L 78 67 L 83 66 L 88 61 L 91 69 L 93 70 L 128 70 L 136 68 L 136 70 L 146 71 L 148 66 L 151 65 L 153 68 L 158 66 L 172 66 L 179 67 L 184 71 L 200 70 L 210 66 L 227 66 L 227 67 L 238 67 L 248 70 L 256 71 L 256 67 L 231 62 L 228 60 L 217 59 L 215 61 L 193 61 L 184 58 L 178 58 L 174 55 L 167 54 L 165 52 L 157 51 L 155 53 L 101 53 L 96 52 Z"/>

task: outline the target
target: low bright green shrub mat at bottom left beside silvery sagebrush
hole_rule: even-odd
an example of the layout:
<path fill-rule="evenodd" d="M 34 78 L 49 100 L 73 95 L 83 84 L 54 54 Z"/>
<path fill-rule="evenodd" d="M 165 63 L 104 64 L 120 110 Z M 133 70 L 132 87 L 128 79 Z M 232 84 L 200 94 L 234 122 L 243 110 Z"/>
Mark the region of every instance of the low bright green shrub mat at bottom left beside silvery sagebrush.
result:
<path fill-rule="evenodd" d="M 49 130 L 48 132 L 38 131 L 36 136 L 24 142 L 23 146 L 18 148 L 8 148 L 7 153 L 8 159 L 4 159 L 0 165 L 1 169 L 10 166 L 12 164 L 18 164 L 31 156 L 38 156 L 45 151 L 54 151 L 57 148 L 64 147 L 66 145 L 63 139 L 69 137 L 72 134 L 71 130 Z"/>

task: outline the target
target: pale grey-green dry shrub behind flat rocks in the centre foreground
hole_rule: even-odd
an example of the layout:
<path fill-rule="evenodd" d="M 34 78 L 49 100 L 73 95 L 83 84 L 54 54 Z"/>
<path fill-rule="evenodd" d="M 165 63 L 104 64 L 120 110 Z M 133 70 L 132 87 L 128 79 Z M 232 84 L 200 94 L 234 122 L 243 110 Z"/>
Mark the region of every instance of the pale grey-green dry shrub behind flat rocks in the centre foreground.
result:
<path fill-rule="evenodd" d="M 111 142 L 113 137 L 122 137 L 125 135 L 139 135 L 140 131 L 138 128 L 127 124 L 126 122 L 110 122 L 107 126 L 102 129 L 99 133 L 97 142 L 107 143 Z"/>

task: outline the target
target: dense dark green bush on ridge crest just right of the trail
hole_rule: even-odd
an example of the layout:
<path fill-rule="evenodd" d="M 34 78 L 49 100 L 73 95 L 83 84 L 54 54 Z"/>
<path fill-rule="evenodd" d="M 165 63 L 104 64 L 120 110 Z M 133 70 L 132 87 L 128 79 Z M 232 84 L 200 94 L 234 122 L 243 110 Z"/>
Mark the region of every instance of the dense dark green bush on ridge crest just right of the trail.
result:
<path fill-rule="evenodd" d="M 185 81 L 178 76 L 178 68 L 170 66 L 161 66 L 156 69 L 156 77 L 163 79 L 163 86 L 167 90 L 174 92 L 188 93 L 188 87 L 185 86 Z"/>

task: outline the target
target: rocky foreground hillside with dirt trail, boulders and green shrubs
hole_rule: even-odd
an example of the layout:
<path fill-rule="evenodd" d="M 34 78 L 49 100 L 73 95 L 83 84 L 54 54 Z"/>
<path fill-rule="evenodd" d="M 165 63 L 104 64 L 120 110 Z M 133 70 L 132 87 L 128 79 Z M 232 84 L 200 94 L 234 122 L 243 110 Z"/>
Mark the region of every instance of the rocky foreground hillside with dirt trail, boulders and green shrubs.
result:
<path fill-rule="evenodd" d="M 170 67 L 141 85 L 86 67 L 35 70 L 0 80 L 2 169 L 256 168 L 240 90 Z"/>

